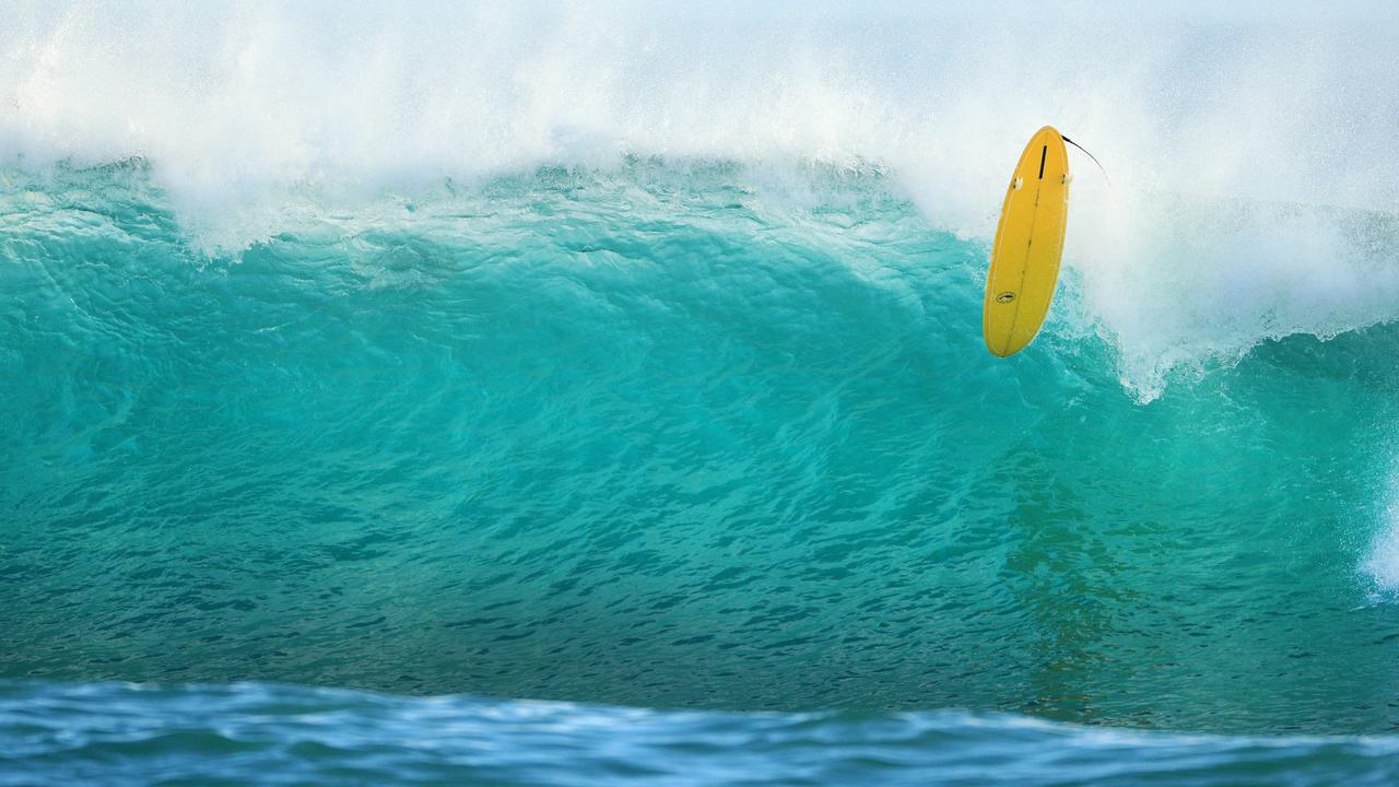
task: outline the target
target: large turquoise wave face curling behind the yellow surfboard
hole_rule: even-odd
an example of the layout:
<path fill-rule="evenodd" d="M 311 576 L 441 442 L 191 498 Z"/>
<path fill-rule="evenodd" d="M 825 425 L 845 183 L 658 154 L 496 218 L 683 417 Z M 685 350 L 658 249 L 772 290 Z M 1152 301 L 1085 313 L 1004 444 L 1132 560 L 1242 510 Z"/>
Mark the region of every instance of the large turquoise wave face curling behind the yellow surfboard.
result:
<path fill-rule="evenodd" d="M 1149 406 L 879 176 L 540 171 L 193 248 L 13 175 L 4 675 L 1374 731 L 1399 330 Z M 1266 685 L 1269 689 L 1262 690 Z"/>

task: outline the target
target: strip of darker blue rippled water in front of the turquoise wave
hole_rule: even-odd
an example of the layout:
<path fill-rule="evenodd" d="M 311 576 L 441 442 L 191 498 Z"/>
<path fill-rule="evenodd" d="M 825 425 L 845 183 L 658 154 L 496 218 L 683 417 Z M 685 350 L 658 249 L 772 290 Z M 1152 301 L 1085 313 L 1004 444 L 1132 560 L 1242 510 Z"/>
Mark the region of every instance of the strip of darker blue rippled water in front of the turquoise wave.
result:
<path fill-rule="evenodd" d="M 256 683 L 0 685 L 0 767 L 24 784 L 1235 787 L 1399 777 L 1391 738 L 1185 737 L 960 711 L 656 711 Z"/>

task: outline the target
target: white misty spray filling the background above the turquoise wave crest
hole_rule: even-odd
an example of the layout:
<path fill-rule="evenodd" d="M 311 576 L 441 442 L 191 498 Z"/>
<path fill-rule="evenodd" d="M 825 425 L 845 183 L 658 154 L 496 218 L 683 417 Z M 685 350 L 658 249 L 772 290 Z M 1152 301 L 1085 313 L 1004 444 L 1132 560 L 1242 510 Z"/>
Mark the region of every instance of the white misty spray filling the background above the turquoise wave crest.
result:
<path fill-rule="evenodd" d="M 1066 262 L 1143 399 L 1260 340 L 1399 315 L 1385 4 L 7 3 L 0 155 L 145 157 L 213 245 L 306 195 L 627 154 L 879 165 L 995 230 L 1052 122 Z"/>

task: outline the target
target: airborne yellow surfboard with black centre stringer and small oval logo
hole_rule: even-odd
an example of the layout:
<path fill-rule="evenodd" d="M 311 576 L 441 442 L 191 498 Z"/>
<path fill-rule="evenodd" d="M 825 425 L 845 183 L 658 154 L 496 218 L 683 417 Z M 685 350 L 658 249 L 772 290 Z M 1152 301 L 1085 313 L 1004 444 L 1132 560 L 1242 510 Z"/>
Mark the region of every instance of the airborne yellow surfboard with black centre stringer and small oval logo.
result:
<path fill-rule="evenodd" d="M 1010 178 L 990 246 L 981 328 L 993 356 L 1023 350 L 1049 314 L 1059 283 L 1072 179 L 1063 136 L 1053 126 L 1035 132 Z"/>

